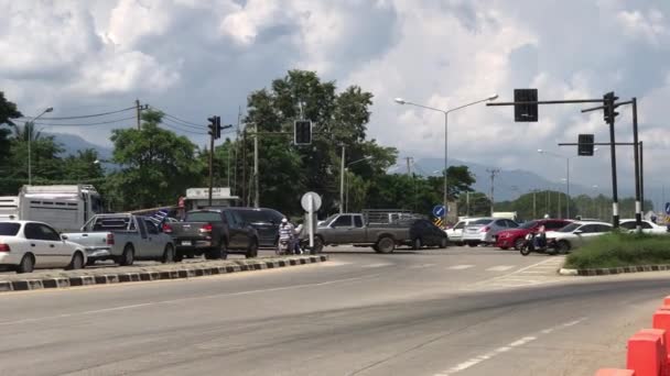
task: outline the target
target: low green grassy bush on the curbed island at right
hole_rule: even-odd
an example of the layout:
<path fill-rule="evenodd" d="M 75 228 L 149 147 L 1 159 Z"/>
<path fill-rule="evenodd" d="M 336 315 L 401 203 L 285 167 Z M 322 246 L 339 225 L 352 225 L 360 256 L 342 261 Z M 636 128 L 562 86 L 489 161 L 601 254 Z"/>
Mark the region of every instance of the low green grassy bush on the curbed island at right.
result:
<path fill-rule="evenodd" d="M 670 235 L 612 233 L 573 251 L 568 268 L 603 268 L 670 264 Z"/>

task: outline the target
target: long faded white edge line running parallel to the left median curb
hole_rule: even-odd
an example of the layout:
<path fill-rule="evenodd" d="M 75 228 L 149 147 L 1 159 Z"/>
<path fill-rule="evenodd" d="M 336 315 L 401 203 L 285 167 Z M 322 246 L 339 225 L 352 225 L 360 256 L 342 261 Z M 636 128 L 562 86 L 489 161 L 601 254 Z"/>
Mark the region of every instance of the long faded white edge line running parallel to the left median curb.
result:
<path fill-rule="evenodd" d="M 110 308 L 102 308 L 102 309 L 96 309 L 96 310 L 90 310 L 90 311 L 62 313 L 62 314 L 56 314 L 56 316 L 48 316 L 48 317 L 42 317 L 42 318 L 29 318 L 29 319 L 21 319 L 21 320 L 14 320 L 14 321 L 1 321 L 0 325 L 11 325 L 11 324 L 18 324 L 18 323 L 25 323 L 25 322 L 36 322 L 36 321 L 44 321 L 44 320 L 71 318 L 71 317 L 95 314 L 95 313 L 109 312 L 109 311 L 121 311 L 121 310 L 127 310 L 127 309 L 132 309 L 132 308 L 139 308 L 139 307 L 169 305 L 169 303 L 176 303 L 176 302 L 188 301 L 188 300 L 196 300 L 196 299 L 235 297 L 235 296 L 244 296 L 244 295 L 251 295 L 251 294 L 259 294 L 259 292 L 273 292 L 273 291 L 282 291 L 282 290 L 292 290 L 292 289 L 299 289 L 299 288 L 304 288 L 304 287 L 326 286 L 326 285 L 347 283 L 347 281 L 354 281 L 354 280 L 371 279 L 371 278 L 379 277 L 379 276 L 380 276 L 379 274 L 372 274 L 372 275 L 369 275 L 369 276 L 353 277 L 353 278 L 343 278 L 343 279 L 333 279 L 333 280 L 327 280 L 327 281 L 316 283 L 316 284 L 302 284 L 302 285 L 274 287 L 274 288 L 258 289 L 258 290 L 247 290 L 247 291 L 239 291 L 239 292 L 213 294 L 213 295 L 205 295 L 205 296 L 202 296 L 202 297 L 190 297 L 190 298 L 180 298 L 180 299 L 170 299 L 170 300 L 149 301 L 149 302 L 141 303 L 141 305 L 110 307 Z"/>

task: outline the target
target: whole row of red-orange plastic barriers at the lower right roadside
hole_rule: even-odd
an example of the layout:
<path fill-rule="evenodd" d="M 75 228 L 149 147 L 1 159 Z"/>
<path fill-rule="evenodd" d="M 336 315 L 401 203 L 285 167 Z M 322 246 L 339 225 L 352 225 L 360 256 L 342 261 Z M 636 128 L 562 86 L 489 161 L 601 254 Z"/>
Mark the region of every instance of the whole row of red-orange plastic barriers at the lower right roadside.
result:
<path fill-rule="evenodd" d="M 670 376 L 670 296 L 653 312 L 651 329 L 628 339 L 626 369 L 601 368 L 596 376 Z"/>

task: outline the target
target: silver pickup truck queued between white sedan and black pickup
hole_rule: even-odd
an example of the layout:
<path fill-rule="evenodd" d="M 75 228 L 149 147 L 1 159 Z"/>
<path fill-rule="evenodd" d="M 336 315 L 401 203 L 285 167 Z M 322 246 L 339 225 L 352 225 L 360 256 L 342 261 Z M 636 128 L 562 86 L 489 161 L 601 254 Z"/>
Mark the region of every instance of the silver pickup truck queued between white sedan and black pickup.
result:
<path fill-rule="evenodd" d="M 136 259 L 174 261 L 172 237 L 148 217 L 98 214 L 84 224 L 82 232 L 63 235 L 84 246 L 88 265 L 98 259 L 114 259 L 119 265 L 132 265 Z"/>

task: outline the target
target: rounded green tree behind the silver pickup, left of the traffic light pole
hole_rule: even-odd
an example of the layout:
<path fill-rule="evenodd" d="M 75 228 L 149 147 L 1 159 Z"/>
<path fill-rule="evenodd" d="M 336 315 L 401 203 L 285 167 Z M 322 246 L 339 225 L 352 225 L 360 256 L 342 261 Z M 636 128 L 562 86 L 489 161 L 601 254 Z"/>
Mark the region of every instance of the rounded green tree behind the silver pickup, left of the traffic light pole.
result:
<path fill-rule="evenodd" d="M 173 204 L 186 188 L 204 183 L 197 146 L 159 128 L 162 118 L 159 111 L 143 111 L 141 130 L 112 131 L 112 161 L 121 170 L 111 174 L 105 190 L 117 209 Z"/>

